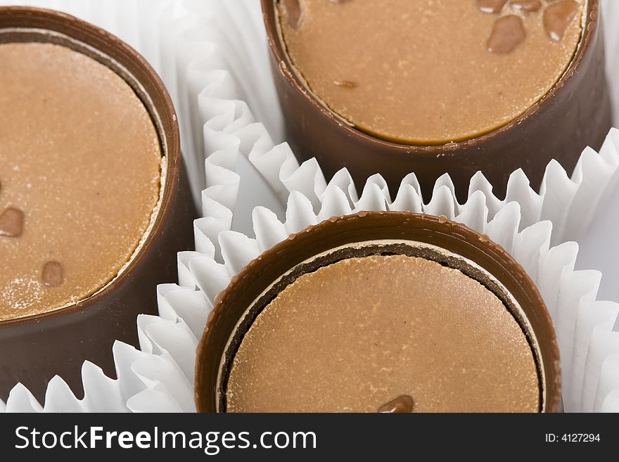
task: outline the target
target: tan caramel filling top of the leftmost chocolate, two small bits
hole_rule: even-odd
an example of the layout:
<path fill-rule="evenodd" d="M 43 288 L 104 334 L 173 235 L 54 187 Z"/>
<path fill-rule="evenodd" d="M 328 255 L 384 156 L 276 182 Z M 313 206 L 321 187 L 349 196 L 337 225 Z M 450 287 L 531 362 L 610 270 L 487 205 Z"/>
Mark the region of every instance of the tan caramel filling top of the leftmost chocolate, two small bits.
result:
<path fill-rule="evenodd" d="M 148 111 L 106 66 L 64 46 L 0 44 L 0 320 L 108 284 L 159 200 Z"/>

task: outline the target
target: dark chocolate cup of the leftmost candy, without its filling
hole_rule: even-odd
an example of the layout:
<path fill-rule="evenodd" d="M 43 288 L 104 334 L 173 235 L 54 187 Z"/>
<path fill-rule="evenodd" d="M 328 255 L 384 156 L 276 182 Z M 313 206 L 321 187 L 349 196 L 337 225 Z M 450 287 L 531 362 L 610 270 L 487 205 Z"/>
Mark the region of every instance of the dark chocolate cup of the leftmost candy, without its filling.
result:
<path fill-rule="evenodd" d="M 193 248 L 197 216 L 181 158 L 174 105 L 157 73 L 112 34 L 70 15 L 37 8 L 0 8 L 0 43 L 53 42 L 107 65 L 132 86 L 151 114 L 167 156 L 158 217 L 141 250 L 103 290 L 70 307 L 0 321 L 0 399 L 23 383 L 43 401 L 49 380 L 62 377 L 82 396 L 81 368 L 92 361 L 115 377 L 115 340 L 138 346 L 136 316 L 157 314 L 155 287 L 177 277 L 177 252 Z"/>

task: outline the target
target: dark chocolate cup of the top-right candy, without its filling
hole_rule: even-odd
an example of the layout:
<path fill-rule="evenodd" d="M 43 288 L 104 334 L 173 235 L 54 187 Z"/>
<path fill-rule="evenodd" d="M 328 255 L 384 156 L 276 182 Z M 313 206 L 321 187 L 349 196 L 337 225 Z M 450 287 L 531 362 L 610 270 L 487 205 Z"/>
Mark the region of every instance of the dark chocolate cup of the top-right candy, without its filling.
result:
<path fill-rule="evenodd" d="M 286 141 L 300 161 L 317 158 L 327 179 L 346 167 L 357 188 L 380 173 L 392 192 L 414 172 L 425 200 L 436 179 L 448 173 L 458 200 L 466 201 L 478 171 L 500 198 L 511 172 L 521 168 L 540 191 L 548 163 L 568 174 L 587 146 L 599 149 L 611 128 L 611 105 L 604 74 L 604 41 L 598 0 L 589 0 L 585 33 L 572 63 L 554 88 L 504 127 L 468 141 L 412 146 L 365 134 L 326 108 L 298 76 L 279 30 L 275 0 L 262 0 L 275 86 L 286 125 Z"/>

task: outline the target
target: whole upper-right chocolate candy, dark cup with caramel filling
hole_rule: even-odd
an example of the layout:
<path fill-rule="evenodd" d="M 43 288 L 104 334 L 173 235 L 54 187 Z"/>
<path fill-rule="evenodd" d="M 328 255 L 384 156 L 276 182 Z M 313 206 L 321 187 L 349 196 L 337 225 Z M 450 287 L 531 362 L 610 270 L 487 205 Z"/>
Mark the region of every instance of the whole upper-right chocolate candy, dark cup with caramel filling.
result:
<path fill-rule="evenodd" d="M 599 2 L 575 1 L 575 14 L 544 26 L 563 1 L 537 11 L 518 1 L 480 2 L 483 11 L 473 0 L 302 2 L 312 14 L 292 28 L 288 2 L 262 0 L 286 141 L 327 179 L 346 167 L 357 188 L 379 173 L 395 192 L 414 172 L 429 200 L 447 173 L 464 201 L 481 171 L 502 198 L 523 169 L 539 191 L 551 160 L 571 174 L 611 127 Z"/>

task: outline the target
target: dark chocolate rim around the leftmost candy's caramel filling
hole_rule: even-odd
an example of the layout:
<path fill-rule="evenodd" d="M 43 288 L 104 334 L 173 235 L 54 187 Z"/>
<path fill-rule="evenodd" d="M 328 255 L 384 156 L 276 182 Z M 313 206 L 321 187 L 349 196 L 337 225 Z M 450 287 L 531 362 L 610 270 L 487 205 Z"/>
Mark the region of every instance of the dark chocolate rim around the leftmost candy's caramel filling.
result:
<path fill-rule="evenodd" d="M 30 25 L 26 27 L 16 26 L 13 23 L 13 21 L 15 20 L 27 20 L 30 21 Z M 106 42 L 106 44 L 110 46 L 110 48 L 115 48 L 118 51 L 121 51 L 122 54 L 125 55 L 125 58 L 132 60 L 136 65 L 138 65 L 141 68 L 141 72 L 143 72 L 143 75 L 141 76 L 141 78 L 138 78 L 126 68 L 113 68 L 110 63 L 115 63 L 117 66 L 121 67 L 122 65 L 120 63 L 117 63 L 114 58 L 111 58 L 108 53 L 101 51 L 101 49 L 99 48 L 94 48 L 94 46 L 92 46 L 91 44 L 87 44 L 81 39 L 76 39 L 72 35 L 67 34 L 64 29 L 62 32 L 51 29 L 50 27 L 53 25 L 58 25 L 60 26 L 60 28 L 70 26 L 70 30 L 72 32 L 77 32 L 78 34 L 87 34 L 87 36 L 91 39 L 94 39 L 94 41 L 98 41 L 101 43 Z M 53 309 L 49 312 L 32 314 L 30 316 L 0 320 L 0 327 L 27 323 L 39 323 L 42 318 L 61 316 L 70 312 L 82 312 L 84 311 L 84 309 L 88 309 L 89 307 L 97 304 L 100 300 L 105 299 L 110 295 L 110 293 L 115 292 L 117 288 L 124 285 L 127 279 L 130 279 L 132 277 L 132 273 L 135 267 L 138 266 L 141 260 L 144 258 L 146 249 L 148 248 L 148 245 L 152 242 L 153 236 L 155 236 L 155 234 L 157 233 L 162 232 L 165 217 L 170 212 L 170 208 L 172 207 L 174 185 L 178 184 L 179 182 L 181 169 L 180 131 L 176 110 L 174 109 L 174 104 L 172 103 L 172 98 L 167 92 L 167 89 L 165 88 L 165 85 L 163 84 L 157 72 L 155 72 L 151 65 L 148 64 L 148 62 L 137 51 L 135 51 L 131 46 L 126 44 L 115 35 L 110 34 L 110 32 L 107 32 L 100 27 L 96 27 L 95 25 L 87 23 L 86 21 L 80 20 L 79 18 L 76 18 L 75 16 L 69 15 L 67 13 L 49 10 L 46 8 L 0 6 L 0 34 L 2 33 L 2 30 L 13 28 L 15 28 L 16 34 L 23 32 L 26 35 L 39 34 L 40 36 L 42 36 L 43 34 L 45 34 L 46 31 L 52 32 L 53 35 L 50 35 L 50 38 L 52 39 L 49 41 L 44 41 L 44 43 L 57 43 L 62 44 L 63 46 L 70 47 L 70 44 L 63 40 L 63 37 L 67 37 L 71 41 L 75 41 L 75 44 L 84 46 L 84 49 L 93 49 L 94 53 L 85 54 L 87 54 L 87 56 L 90 56 L 91 58 L 96 59 L 99 63 L 102 63 L 103 65 L 106 65 L 106 67 L 113 70 L 115 74 L 119 75 L 125 82 L 127 82 L 127 84 L 129 84 L 129 86 L 132 87 L 134 93 L 139 97 L 140 101 L 151 116 L 153 124 L 155 125 L 160 147 L 162 150 L 161 157 L 167 158 L 167 164 L 163 165 L 161 169 L 160 199 L 158 202 L 159 210 L 156 210 L 157 206 L 155 206 L 155 209 L 153 209 L 153 213 L 156 213 L 155 220 L 151 223 L 151 226 L 149 226 L 147 231 L 144 233 L 141 242 L 136 247 L 136 250 L 134 250 L 134 253 L 127 262 L 127 265 L 125 267 L 122 267 L 119 273 L 111 281 L 99 288 L 96 293 L 89 295 L 89 297 L 68 304 L 65 307 Z M 28 40 L 0 40 L 0 44 L 14 43 L 15 41 Z M 84 49 L 77 49 L 76 51 L 84 53 Z M 108 60 L 108 62 L 105 62 L 104 60 Z M 157 108 L 155 108 L 155 104 L 152 101 L 148 101 L 151 97 L 151 94 L 148 94 L 144 89 L 136 88 L 136 85 L 141 86 L 141 82 L 143 82 L 144 77 L 150 79 L 153 86 L 158 88 L 160 93 L 158 96 L 162 98 L 163 101 L 165 101 L 165 113 L 163 113 L 161 110 L 157 110 Z M 167 129 L 165 127 L 167 127 Z"/>

